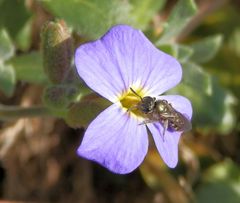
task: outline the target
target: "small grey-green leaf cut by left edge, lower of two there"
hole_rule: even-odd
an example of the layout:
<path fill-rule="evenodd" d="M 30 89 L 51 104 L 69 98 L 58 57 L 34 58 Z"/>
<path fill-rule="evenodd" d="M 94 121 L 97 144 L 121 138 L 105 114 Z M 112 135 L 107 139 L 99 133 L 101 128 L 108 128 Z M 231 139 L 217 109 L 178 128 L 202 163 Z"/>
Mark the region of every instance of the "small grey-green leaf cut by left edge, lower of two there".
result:
<path fill-rule="evenodd" d="M 15 72 L 11 65 L 0 62 L 0 90 L 8 97 L 12 96 L 15 88 Z"/>

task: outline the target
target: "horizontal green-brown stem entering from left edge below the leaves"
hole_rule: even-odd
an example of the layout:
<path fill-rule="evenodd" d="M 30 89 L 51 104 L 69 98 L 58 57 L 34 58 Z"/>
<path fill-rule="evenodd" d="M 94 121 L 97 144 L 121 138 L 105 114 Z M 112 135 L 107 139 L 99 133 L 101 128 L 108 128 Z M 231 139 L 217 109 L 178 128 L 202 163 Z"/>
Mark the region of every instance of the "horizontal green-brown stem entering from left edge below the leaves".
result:
<path fill-rule="evenodd" d="M 20 107 L 0 105 L 0 120 L 51 116 L 49 109 L 43 106 Z"/>

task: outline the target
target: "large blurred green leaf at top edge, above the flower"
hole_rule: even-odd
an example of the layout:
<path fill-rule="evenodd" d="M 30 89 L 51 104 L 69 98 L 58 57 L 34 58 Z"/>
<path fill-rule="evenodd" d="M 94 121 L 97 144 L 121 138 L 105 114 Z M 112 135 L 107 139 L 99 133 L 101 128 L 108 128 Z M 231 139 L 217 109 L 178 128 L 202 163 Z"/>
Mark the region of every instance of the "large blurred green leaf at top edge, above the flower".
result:
<path fill-rule="evenodd" d="M 90 39 L 103 35 L 112 25 L 131 23 L 130 4 L 119 0 L 43 0 L 43 5 Z"/>

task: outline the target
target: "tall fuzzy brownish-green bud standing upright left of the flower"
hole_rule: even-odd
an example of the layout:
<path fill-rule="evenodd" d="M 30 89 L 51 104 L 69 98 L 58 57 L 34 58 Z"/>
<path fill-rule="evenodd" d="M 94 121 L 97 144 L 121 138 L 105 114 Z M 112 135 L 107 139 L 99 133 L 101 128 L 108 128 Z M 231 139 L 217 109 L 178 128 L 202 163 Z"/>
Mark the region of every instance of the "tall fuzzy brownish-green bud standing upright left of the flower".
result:
<path fill-rule="evenodd" d="M 62 83 L 71 68 L 73 46 L 64 21 L 47 22 L 42 28 L 41 39 L 44 71 L 52 83 Z"/>

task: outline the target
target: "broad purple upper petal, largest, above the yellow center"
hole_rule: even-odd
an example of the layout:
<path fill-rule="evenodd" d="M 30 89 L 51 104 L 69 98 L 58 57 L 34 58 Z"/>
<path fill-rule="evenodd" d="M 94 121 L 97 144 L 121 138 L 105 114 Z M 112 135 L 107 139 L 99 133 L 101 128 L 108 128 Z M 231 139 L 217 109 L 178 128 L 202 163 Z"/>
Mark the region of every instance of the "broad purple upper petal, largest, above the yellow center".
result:
<path fill-rule="evenodd" d="M 80 46 L 75 63 L 86 84 L 112 102 L 131 86 L 159 95 L 179 83 L 182 76 L 173 57 L 127 25 L 114 26 L 101 39 Z"/>

